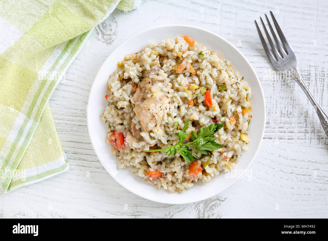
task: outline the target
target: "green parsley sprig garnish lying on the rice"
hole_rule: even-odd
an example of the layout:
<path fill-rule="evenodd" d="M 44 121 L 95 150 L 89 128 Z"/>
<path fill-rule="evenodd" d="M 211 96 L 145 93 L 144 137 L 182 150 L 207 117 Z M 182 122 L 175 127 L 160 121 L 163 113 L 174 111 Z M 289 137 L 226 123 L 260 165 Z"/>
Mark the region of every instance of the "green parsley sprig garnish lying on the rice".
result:
<path fill-rule="evenodd" d="M 186 140 L 187 137 L 189 136 L 189 134 L 185 132 L 188 129 L 189 124 L 190 121 L 188 119 L 185 125 L 183 126 L 182 130 L 178 133 L 175 133 L 175 136 L 179 138 L 179 141 L 173 146 L 169 146 L 162 149 L 149 150 L 146 152 L 165 151 L 166 153 L 169 154 L 169 156 L 171 156 L 171 155 L 175 155 L 177 151 L 180 151 L 181 156 L 183 157 L 183 159 L 185 159 L 186 162 L 192 162 L 194 158 L 197 157 L 197 153 L 190 150 L 189 147 L 195 147 L 197 151 L 203 154 L 208 154 L 208 151 L 214 151 L 216 149 L 222 148 L 221 144 L 215 142 L 216 138 L 210 137 L 211 135 L 213 135 L 223 127 L 222 124 L 216 123 L 214 125 L 212 123 L 208 127 L 199 128 L 197 133 L 192 131 L 190 134 L 190 139 L 192 141 L 183 143 L 184 140 Z"/>

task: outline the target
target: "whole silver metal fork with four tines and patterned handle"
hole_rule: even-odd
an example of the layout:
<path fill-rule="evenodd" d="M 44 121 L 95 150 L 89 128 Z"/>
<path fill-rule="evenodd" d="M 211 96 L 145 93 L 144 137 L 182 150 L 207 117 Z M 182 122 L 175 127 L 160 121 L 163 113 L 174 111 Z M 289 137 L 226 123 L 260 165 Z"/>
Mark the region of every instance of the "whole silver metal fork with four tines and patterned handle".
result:
<path fill-rule="evenodd" d="M 325 131 L 326 136 L 328 138 L 328 116 L 318 105 L 317 101 L 314 99 L 310 90 L 305 85 L 304 80 L 299 75 L 298 70 L 297 70 L 297 60 L 296 60 L 295 53 L 292 50 L 292 48 L 290 47 L 290 45 L 288 44 L 287 39 L 286 39 L 285 35 L 282 33 L 272 11 L 270 11 L 270 14 L 271 14 L 272 21 L 276 27 L 276 31 L 278 33 L 278 36 L 279 36 L 281 42 L 278 40 L 277 35 L 276 35 L 275 31 L 273 30 L 271 23 L 268 19 L 268 16 L 266 14 L 264 14 L 266 21 L 268 23 L 269 29 L 271 31 L 272 37 L 275 40 L 275 43 L 277 46 L 276 47 L 275 43 L 272 41 L 270 34 L 268 33 L 268 30 L 266 29 L 265 24 L 264 24 L 262 18 L 260 17 L 265 35 L 267 36 L 267 39 L 269 41 L 269 44 L 270 44 L 271 50 L 272 50 L 271 51 L 270 48 L 268 47 L 268 45 L 261 33 L 261 30 L 258 28 L 256 20 L 254 20 L 256 29 L 258 32 L 258 36 L 260 37 L 264 51 L 265 51 L 270 63 L 276 70 L 281 71 L 281 72 L 288 72 L 292 76 L 292 78 L 299 84 L 299 86 L 304 90 L 305 94 L 309 98 L 313 107 L 317 111 L 317 114 L 319 116 L 323 130 Z"/>

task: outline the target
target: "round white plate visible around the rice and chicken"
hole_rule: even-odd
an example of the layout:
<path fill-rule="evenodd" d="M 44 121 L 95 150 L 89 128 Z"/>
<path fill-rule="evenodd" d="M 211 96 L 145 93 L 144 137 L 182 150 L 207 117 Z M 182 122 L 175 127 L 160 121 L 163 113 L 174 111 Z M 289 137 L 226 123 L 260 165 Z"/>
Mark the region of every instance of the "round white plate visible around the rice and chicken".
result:
<path fill-rule="evenodd" d="M 88 100 L 88 129 L 94 151 L 100 162 L 111 176 L 123 187 L 133 193 L 149 200 L 169 203 L 183 204 L 204 200 L 223 191 L 236 181 L 236 178 L 227 177 L 225 173 L 214 177 L 208 184 L 199 181 L 184 193 L 169 193 L 163 188 L 157 190 L 149 185 L 143 178 L 131 172 L 131 167 L 118 169 L 119 161 L 111 153 L 111 147 L 105 143 L 107 126 L 99 117 L 108 105 L 105 99 L 107 91 L 107 80 L 111 73 L 117 68 L 117 62 L 122 61 L 124 56 L 147 47 L 151 41 L 161 43 L 167 37 L 175 39 L 177 36 L 189 35 L 197 42 L 211 51 L 217 51 L 222 57 L 229 60 L 235 70 L 239 71 L 252 88 L 252 122 L 248 137 L 249 151 L 243 151 L 242 157 L 237 164 L 237 170 L 245 170 L 251 164 L 261 145 L 265 128 L 265 100 L 260 81 L 245 56 L 231 43 L 219 35 L 192 26 L 170 25 L 139 33 L 118 46 L 101 66 L 95 80 L 93 81 Z"/>

